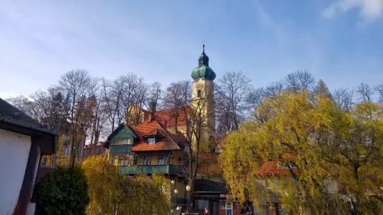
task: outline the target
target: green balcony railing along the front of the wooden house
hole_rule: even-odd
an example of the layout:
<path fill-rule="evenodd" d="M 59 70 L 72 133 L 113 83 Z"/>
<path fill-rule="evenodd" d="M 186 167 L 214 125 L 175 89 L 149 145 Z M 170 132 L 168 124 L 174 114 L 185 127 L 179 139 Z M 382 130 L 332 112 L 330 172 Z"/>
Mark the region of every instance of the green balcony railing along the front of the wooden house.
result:
<path fill-rule="evenodd" d="M 186 173 L 173 165 L 120 166 L 120 171 L 124 174 L 179 174 L 187 176 Z"/>

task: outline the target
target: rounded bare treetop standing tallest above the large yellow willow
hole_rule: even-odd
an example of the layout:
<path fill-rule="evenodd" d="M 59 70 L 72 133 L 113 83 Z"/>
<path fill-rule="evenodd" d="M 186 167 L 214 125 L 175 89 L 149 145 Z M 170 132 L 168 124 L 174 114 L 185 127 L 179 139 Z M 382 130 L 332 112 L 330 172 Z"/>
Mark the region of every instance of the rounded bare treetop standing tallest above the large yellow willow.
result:
<path fill-rule="evenodd" d="M 284 78 L 284 83 L 287 89 L 298 92 L 302 89 L 311 89 L 315 84 L 315 78 L 306 70 L 298 70 L 288 74 L 286 78 Z"/>

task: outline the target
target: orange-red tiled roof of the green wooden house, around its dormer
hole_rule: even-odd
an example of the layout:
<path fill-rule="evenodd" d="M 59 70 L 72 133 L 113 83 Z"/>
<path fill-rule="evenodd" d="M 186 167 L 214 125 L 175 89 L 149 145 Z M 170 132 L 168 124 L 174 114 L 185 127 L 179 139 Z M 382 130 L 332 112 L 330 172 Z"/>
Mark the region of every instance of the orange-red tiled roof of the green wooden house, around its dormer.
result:
<path fill-rule="evenodd" d="M 160 123 L 156 120 L 152 120 L 150 122 L 143 121 L 138 124 L 133 130 L 140 137 L 140 140 L 136 142 L 131 148 L 132 151 L 145 151 L 145 150 L 179 150 L 179 146 L 176 141 L 172 138 L 172 135 L 168 133 Z M 147 144 L 145 137 L 147 134 L 152 133 L 154 130 L 156 132 L 161 132 L 163 137 L 159 139 L 155 144 Z"/>

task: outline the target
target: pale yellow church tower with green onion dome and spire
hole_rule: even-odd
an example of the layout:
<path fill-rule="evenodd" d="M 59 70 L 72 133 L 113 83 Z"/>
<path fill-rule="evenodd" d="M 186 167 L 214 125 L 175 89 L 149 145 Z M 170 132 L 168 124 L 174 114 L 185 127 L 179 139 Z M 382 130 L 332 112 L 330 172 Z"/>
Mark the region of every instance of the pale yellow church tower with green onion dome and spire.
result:
<path fill-rule="evenodd" d="M 205 54 L 205 45 L 202 46 L 202 54 L 199 55 L 198 67 L 192 71 L 193 96 L 191 105 L 197 113 L 195 119 L 202 121 L 201 141 L 215 140 L 215 105 L 214 83 L 215 73 L 209 67 L 209 57 Z"/>

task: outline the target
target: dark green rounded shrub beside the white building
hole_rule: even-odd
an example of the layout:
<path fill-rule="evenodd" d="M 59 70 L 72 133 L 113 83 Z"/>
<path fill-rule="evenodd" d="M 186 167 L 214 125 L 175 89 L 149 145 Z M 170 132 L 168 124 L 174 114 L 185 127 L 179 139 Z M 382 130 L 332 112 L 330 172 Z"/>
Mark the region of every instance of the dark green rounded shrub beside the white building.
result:
<path fill-rule="evenodd" d="M 33 198 L 36 214 L 85 214 L 89 197 L 83 170 L 58 167 L 36 184 Z"/>

